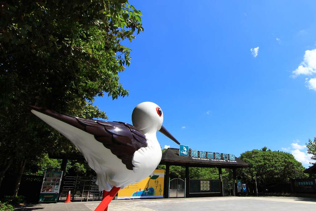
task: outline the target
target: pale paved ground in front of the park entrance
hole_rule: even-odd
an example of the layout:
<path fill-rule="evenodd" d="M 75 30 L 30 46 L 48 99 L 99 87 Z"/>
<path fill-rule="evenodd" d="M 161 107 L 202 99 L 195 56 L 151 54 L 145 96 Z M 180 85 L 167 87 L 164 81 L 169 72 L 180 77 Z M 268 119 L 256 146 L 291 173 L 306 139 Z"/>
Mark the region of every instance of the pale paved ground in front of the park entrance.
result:
<path fill-rule="evenodd" d="M 42 203 L 24 206 L 16 210 L 85 210 L 91 211 L 99 202 Z M 134 199 L 113 200 L 108 211 L 152 211 L 152 210 L 316 210 L 316 199 L 296 197 L 207 197 L 182 199 Z"/>

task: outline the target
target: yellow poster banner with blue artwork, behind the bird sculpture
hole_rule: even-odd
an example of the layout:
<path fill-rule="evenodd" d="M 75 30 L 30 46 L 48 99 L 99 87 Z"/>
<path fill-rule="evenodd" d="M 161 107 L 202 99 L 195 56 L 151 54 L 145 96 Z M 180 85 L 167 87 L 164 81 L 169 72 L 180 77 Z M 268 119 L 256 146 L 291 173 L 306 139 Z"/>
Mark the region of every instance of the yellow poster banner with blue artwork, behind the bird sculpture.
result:
<path fill-rule="evenodd" d="M 139 183 L 119 190 L 118 199 L 162 198 L 165 170 L 156 169 Z"/>

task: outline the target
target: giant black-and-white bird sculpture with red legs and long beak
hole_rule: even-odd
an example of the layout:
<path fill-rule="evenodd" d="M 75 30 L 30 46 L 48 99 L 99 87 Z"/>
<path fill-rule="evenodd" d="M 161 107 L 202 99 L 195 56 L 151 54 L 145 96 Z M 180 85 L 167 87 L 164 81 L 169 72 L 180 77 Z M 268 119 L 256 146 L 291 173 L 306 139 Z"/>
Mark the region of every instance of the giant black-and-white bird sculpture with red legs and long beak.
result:
<path fill-rule="evenodd" d="M 180 144 L 162 126 L 163 113 L 153 102 L 138 104 L 133 126 L 124 122 L 82 119 L 30 106 L 31 112 L 69 139 L 97 173 L 103 200 L 96 208 L 107 210 L 119 189 L 148 177 L 161 160 L 159 131 Z"/>

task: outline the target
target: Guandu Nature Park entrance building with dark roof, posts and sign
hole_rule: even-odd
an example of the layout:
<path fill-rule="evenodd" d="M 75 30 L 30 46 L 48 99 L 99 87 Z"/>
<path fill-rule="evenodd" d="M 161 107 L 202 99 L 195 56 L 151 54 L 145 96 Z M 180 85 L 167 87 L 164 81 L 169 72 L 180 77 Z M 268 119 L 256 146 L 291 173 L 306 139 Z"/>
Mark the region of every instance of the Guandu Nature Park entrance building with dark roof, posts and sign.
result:
<path fill-rule="evenodd" d="M 184 145 L 180 145 L 179 149 L 168 148 L 162 153 L 160 164 L 166 165 L 165 198 L 224 196 L 222 169 L 233 170 L 233 195 L 236 196 L 236 169 L 249 166 L 232 154 L 191 150 Z M 185 180 L 175 178 L 169 181 L 169 168 L 172 165 L 185 167 Z M 218 179 L 190 179 L 190 167 L 218 168 Z"/>

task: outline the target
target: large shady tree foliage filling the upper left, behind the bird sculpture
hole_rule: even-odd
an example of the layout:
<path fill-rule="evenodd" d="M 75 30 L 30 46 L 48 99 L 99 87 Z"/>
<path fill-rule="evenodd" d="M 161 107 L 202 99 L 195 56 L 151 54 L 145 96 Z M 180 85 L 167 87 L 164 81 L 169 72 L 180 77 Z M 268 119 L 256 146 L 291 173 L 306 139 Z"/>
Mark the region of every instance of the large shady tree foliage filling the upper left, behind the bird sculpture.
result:
<path fill-rule="evenodd" d="M 24 169 L 54 146 L 73 150 L 28 105 L 107 118 L 94 97 L 128 95 L 118 73 L 130 65 L 131 49 L 121 42 L 143 31 L 141 15 L 126 0 L 1 2 L 0 184 L 13 159 Z"/>

